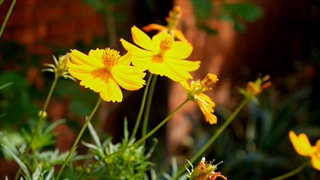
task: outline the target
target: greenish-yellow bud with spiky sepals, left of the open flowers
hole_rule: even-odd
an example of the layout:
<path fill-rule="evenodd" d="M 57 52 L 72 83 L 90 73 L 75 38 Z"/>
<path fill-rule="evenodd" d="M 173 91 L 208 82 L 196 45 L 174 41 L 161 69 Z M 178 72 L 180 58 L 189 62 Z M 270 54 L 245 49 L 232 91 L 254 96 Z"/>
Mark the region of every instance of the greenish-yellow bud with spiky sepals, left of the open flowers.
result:
<path fill-rule="evenodd" d="M 55 65 L 53 65 L 53 64 L 43 64 L 45 66 L 49 66 L 49 67 L 52 67 L 52 68 L 42 69 L 41 71 L 54 72 L 55 75 L 57 75 L 58 77 L 63 76 L 64 78 L 70 78 L 70 79 L 75 81 L 75 79 L 73 77 L 71 77 L 69 75 L 69 72 L 67 71 L 68 64 L 70 63 L 69 53 L 66 53 L 64 55 L 59 55 L 59 59 L 58 60 L 56 60 L 54 55 L 52 55 L 52 57 L 53 57 L 53 60 L 55 62 Z"/>

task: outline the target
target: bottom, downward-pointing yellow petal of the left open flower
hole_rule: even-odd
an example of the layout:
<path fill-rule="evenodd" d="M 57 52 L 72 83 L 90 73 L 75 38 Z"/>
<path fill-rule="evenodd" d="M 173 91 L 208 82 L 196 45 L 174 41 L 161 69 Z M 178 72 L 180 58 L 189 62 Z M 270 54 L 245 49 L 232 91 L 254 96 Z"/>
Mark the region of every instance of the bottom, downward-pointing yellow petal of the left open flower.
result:
<path fill-rule="evenodd" d="M 103 90 L 100 91 L 100 96 L 105 101 L 122 101 L 122 92 L 119 85 L 113 79 L 111 73 L 105 73 L 101 79 L 104 81 Z"/>

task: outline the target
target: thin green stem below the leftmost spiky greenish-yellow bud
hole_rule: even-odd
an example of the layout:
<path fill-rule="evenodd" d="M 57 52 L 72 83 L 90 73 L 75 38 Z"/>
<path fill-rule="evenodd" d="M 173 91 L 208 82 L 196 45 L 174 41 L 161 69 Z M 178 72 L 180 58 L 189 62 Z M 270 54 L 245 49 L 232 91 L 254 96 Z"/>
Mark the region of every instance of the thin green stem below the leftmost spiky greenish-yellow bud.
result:
<path fill-rule="evenodd" d="M 29 150 L 30 150 L 30 148 L 32 147 L 32 143 L 33 143 L 33 141 L 34 141 L 34 139 L 35 139 L 35 136 L 37 135 L 37 133 L 38 133 L 38 131 L 39 131 L 41 122 L 42 122 L 42 120 L 43 120 L 43 113 L 45 112 L 45 110 L 46 110 L 46 108 L 47 108 L 47 106 L 48 106 L 48 104 L 49 104 L 49 101 L 50 101 L 50 98 L 51 98 L 53 89 L 54 89 L 54 87 L 55 87 L 56 82 L 58 81 L 58 79 L 59 79 L 59 76 L 58 76 L 58 75 L 55 75 L 55 76 L 54 76 L 54 80 L 53 80 L 53 82 L 52 82 L 52 85 L 51 85 L 51 87 L 50 87 L 49 93 L 48 93 L 48 95 L 46 96 L 44 105 L 43 105 L 43 107 L 42 107 L 42 114 L 40 114 L 39 120 L 38 120 L 38 122 L 37 122 L 37 124 L 36 124 L 36 126 L 35 126 L 35 129 L 34 129 L 33 133 L 32 133 L 30 142 L 29 142 L 28 146 L 26 147 L 26 149 L 25 149 L 25 151 L 24 151 L 23 160 L 26 158 L 26 155 L 29 153 Z M 22 161 L 23 161 L 23 160 L 22 160 Z M 15 174 L 15 177 L 14 177 L 15 180 L 18 178 L 18 176 L 20 175 L 20 173 L 21 173 L 21 168 L 19 168 L 18 171 L 17 171 L 17 173 Z"/>

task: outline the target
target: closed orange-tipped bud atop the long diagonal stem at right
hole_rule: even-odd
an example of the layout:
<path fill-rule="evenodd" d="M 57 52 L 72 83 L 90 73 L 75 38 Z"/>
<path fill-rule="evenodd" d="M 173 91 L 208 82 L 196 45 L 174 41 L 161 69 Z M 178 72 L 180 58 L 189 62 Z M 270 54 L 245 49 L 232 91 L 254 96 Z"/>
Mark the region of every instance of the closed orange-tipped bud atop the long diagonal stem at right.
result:
<path fill-rule="evenodd" d="M 270 78 L 269 75 L 264 77 L 257 77 L 254 82 L 250 81 L 246 84 L 246 89 L 239 88 L 241 94 L 246 97 L 252 98 L 252 100 L 257 102 L 256 95 L 260 94 L 263 89 L 271 85 L 270 81 L 267 81 Z"/>

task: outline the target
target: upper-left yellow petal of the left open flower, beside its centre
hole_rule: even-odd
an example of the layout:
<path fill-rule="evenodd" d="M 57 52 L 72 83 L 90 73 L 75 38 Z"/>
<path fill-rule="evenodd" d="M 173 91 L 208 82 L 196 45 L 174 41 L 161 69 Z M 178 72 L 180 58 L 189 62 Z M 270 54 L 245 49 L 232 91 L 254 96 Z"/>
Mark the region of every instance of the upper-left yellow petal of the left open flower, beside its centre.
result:
<path fill-rule="evenodd" d="M 78 65 L 88 65 L 92 67 L 103 67 L 103 64 L 101 62 L 98 62 L 97 60 L 85 55 L 78 50 L 71 50 L 71 53 L 69 53 L 69 55 L 72 63 Z"/>

